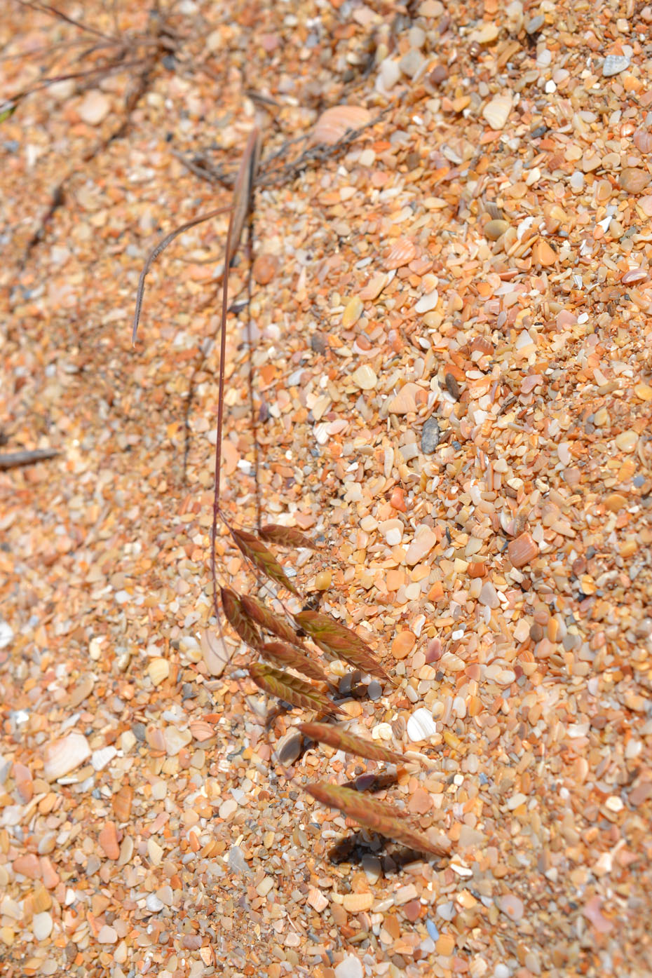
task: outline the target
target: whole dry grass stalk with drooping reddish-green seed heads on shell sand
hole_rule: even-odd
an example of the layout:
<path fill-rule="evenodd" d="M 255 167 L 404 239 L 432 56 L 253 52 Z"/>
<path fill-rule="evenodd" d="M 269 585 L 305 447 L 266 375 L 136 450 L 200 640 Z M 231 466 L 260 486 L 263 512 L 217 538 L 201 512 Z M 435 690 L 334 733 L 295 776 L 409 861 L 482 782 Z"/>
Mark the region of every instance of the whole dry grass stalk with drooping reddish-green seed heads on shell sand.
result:
<path fill-rule="evenodd" d="M 260 493 L 258 491 L 256 492 L 257 532 L 235 526 L 220 505 L 228 275 L 231 263 L 239 248 L 246 219 L 252 211 L 260 149 L 260 133 L 258 129 L 254 128 L 239 164 L 231 205 L 210 211 L 187 222 L 183 227 L 167 235 L 152 250 L 139 283 L 133 340 L 136 341 L 138 333 L 145 278 L 152 266 L 152 261 L 164 247 L 171 244 L 182 232 L 218 214 L 229 213 L 219 326 L 220 364 L 217 438 L 215 444 L 213 518 L 210 534 L 210 573 L 214 611 L 220 633 L 223 613 L 224 618 L 237 633 L 241 642 L 247 646 L 250 655 L 246 672 L 258 689 L 263 690 L 267 695 L 276 697 L 285 704 L 289 704 L 291 707 L 310 711 L 317 720 L 326 718 L 332 720 L 337 717 L 346 717 L 347 714 L 332 698 L 336 688 L 328 679 L 323 663 L 320 661 L 318 649 L 326 660 L 343 660 L 351 665 L 354 670 L 375 676 L 387 684 L 395 685 L 394 680 L 375 657 L 369 645 L 356 632 L 330 615 L 306 607 L 303 607 L 302 610 L 291 610 L 282 601 L 281 604 L 285 612 L 285 617 L 282 617 L 273 611 L 264 600 L 249 595 L 239 595 L 227 585 L 219 586 L 217 580 L 215 544 L 217 526 L 220 520 L 228 529 L 234 545 L 249 564 L 258 582 L 270 581 L 277 589 L 286 591 L 291 596 L 287 599 L 290 604 L 292 600 L 296 603 L 296 599 L 301 599 L 302 596 L 288 577 L 283 563 L 270 548 L 318 549 L 299 530 L 277 524 L 263 524 Z M 253 405 L 252 397 L 250 397 L 250 402 Z M 252 424 L 255 424 L 253 413 Z M 255 426 L 253 435 L 255 441 Z M 257 488 L 257 467 L 254 474 Z M 218 604 L 218 593 L 221 598 L 221 609 Z M 325 743 L 336 750 L 343 750 L 360 758 L 396 765 L 399 769 L 398 774 L 403 774 L 406 764 L 410 763 L 410 759 L 404 758 L 402 754 L 391 751 L 374 741 L 348 733 L 332 724 L 303 723 L 299 725 L 298 729 L 309 741 Z M 421 853 L 427 853 L 431 856 L 446 855 L 447 848 L 431 842 L 425 835 L 411 827 L 406 822 L 403 811 L 369 797 L 369 793 L 365 795 L 361 793 L 365 789 L 391 785 L 396 778 L 397 775 L 394 773 L 373 773 L 357 778 L 354 782 L 354 788 L 326 782 L 299 786 L 316 801 L 331 808 L 339 809 L 345 816 L 372 832 L 395 839 Z"/>

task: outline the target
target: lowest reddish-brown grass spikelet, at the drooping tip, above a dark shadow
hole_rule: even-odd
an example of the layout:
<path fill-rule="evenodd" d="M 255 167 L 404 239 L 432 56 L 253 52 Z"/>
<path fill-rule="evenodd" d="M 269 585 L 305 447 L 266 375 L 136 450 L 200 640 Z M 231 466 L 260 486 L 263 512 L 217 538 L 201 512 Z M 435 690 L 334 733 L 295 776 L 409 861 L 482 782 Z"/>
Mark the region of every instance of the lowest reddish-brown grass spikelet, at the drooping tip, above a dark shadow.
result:
<path fill-rule="evenodd" d="M 378 801 L 369 795 L 361 795 L 352 788 L 341 784 L 306 784 L 304 790 L 328 808 L 337 808 L 349 819 L 353 819 L 372 832 L 396 839 L 411 849 L 433 856 L 448 856 L 444 846 L 431 842 L 427 836 L 411 828 L 405 821 L 405 813 L 386 802 Z"/>

